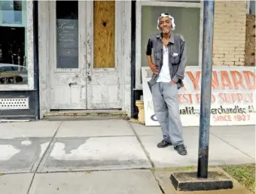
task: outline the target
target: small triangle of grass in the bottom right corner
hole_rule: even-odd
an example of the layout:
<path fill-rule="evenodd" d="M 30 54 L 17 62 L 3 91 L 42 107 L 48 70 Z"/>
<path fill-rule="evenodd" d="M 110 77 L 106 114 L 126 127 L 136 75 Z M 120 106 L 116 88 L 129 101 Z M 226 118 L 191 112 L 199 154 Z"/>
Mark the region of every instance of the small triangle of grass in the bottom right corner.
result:
<path fill-rule="evenodd" d="M 221 166 L 239 183 L 255 193 L 255 165 L 224 165 Z"/>

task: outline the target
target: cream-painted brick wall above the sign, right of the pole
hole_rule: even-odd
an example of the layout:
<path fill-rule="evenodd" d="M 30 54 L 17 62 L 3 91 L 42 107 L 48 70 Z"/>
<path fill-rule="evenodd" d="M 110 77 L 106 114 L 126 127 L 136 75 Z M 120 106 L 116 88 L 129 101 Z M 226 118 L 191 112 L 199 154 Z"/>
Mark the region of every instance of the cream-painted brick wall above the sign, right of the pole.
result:
<path fill-rule="evenodd" d="M 215 1 L 213 65 L 245 64 L 246 1 Z"/>

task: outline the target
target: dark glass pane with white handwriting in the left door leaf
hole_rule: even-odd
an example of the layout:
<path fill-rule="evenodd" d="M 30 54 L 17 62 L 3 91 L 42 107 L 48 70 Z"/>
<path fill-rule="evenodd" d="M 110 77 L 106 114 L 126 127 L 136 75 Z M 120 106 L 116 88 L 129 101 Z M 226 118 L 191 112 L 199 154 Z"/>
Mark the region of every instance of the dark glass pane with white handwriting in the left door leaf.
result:
<path fill-rule="evenodd" d="M 78 1 L 56 1 L 57 68 L 78 68 Z"/>

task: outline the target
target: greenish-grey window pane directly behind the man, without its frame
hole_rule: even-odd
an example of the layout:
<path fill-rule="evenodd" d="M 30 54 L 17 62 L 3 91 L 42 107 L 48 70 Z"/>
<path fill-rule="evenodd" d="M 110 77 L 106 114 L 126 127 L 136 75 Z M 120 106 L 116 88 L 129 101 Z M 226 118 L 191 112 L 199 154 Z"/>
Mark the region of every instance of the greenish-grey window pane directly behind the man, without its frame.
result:
<path fill-rule="evenodd" d="M 150 35 L 159 33 L 157 18 L 169 13 L 175 19 L 175 31 L 187 42 L 187 66 L 199 65 L 200 8 L 142 6 L 142 66 L 148 66 L 145 46 Z"/>

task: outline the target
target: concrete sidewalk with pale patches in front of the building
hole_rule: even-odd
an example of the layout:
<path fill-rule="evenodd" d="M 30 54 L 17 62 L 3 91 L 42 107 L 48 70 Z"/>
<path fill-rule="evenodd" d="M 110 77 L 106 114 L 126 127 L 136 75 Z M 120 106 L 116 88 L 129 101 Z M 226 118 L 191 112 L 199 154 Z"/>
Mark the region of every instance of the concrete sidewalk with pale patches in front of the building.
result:
<path fill-rule="evenodd" d="M 211 127 L 209 164 L 254 163 L 254 127 Z M 162 193 L 150 169 L 197 165 L 198 137 L 198 127 L 184 128 L 188 155 L 179 156 L 156 147 L 160 127 L 127 120 L 0 123 L 0 190 Z"/>

